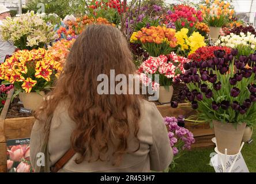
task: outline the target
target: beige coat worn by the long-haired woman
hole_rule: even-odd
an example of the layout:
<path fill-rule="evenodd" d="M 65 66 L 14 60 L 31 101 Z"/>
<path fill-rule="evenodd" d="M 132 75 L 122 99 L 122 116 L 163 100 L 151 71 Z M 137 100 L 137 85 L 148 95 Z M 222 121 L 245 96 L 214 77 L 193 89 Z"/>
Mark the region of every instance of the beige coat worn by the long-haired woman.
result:
<path fill-rule="evenodd" d="M 134 140 L 129 137 L 129 154 L 123 156 L 119 166 L 112 166 L 111 162 L 82 162 L 76 164 L 74 160 L 78 154 L 65 164 L 60 172 L 149 172 L 163 171 L 172 161 L 173 153 L 168 139 L 163 117 L 156 105 L 147 101 L 141 103 L 141 121 L 138 139 L 140 149 Z M 65 105 L 59 105 L 52 117 L 48 149 L 50 153 L 50 165 L 56 163 L 62 155 L 69 150 L 70 135 L 76 124 L 70 119 Z M 35 167 L 36 154 L 42 143 L 44 131 L 39 122 L 35 122 L 31 134 L 31 163 Z"/>

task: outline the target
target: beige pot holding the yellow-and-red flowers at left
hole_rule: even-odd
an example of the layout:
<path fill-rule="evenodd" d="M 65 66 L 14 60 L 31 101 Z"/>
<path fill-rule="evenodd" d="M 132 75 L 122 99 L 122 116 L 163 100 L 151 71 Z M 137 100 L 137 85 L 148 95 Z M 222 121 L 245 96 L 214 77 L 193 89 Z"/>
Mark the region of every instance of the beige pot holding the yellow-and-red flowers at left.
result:
<path fill-rule="evenodd" d="M 36 92 L 19 94 L 20 101 L 23 103 L 24 108 L 36 110 L 40 104 L 43 102 L 44 91 L 40 91 L 39 94 Z"/>

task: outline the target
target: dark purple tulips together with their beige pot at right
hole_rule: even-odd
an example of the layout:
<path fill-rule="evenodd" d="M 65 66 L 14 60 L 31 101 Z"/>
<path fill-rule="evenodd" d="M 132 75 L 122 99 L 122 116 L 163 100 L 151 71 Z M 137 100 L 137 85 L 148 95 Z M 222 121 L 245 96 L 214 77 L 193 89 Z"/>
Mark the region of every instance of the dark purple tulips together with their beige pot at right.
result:
<path fill-rule="evenodd" d="M 229 55 L 214 51 L 211 60 L 186 63 L 179 77 L 187 85 L 180 99 L 190 101 L 199 118 L 213 122 L 217 148 L 223 154 L 227 148 L 229 155 L 238 153 L 246 125 L 256 122 L 256 54 L 237 55 L 236 49 Z"/>

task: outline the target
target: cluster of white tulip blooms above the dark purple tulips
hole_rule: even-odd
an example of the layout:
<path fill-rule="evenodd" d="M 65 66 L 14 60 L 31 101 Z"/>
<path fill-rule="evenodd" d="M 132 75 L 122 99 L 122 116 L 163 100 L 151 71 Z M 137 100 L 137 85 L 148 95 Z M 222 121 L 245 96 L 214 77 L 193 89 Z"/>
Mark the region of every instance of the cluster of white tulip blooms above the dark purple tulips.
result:
<path fill-rule="evenodd" d="M 230 35 L 221 36 L 220 39 L 216 41 L 215 45 L 221 45 L 231 48 L 245 46 L 250 47 L 251 49 L 255 49 L 256 37 L 254 34 L 251 34 L 250 32 L 247 32 L 247 34 L 241 32 L 240 35 L 230 33 Z"/>

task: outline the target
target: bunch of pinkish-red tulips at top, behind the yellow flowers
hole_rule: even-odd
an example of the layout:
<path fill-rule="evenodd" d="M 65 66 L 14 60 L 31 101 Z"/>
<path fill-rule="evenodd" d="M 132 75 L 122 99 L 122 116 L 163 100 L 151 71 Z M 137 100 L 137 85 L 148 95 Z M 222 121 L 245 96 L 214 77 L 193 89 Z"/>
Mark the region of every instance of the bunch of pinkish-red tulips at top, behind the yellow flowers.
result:
<path fill-rule="evenodd" d="M 195 31 L 195 24 L 202 22 L 202 11 L 195 10 L 194 7 L 187 5 L 174 6 L 174 10 L 170 15 L 170 20 L 175 22 L 176 30 L 179 31 L 182 28 L 189 29 L 189 35 Z"/>

